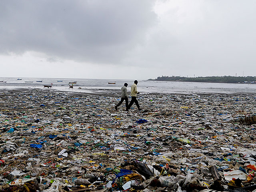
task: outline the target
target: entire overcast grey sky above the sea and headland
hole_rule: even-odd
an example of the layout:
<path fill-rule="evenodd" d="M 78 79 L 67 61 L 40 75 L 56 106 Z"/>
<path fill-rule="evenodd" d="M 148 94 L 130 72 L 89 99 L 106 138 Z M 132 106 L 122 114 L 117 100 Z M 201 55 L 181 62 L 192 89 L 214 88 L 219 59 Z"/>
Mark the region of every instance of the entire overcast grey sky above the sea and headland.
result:
<path fill-rule="evenodd" d="M 255 0 L 1 0 L 0 76 L 256 76 Z"/>

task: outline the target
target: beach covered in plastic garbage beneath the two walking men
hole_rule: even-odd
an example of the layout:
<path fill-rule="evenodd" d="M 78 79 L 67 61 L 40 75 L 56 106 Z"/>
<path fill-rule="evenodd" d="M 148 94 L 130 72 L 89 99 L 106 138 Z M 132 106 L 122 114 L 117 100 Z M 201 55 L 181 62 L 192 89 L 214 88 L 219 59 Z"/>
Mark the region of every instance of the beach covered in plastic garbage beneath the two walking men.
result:
<path fill-rule="evenodd" d="M 254 191 L 255 99 L 2 91 L 0 191 Z"/>

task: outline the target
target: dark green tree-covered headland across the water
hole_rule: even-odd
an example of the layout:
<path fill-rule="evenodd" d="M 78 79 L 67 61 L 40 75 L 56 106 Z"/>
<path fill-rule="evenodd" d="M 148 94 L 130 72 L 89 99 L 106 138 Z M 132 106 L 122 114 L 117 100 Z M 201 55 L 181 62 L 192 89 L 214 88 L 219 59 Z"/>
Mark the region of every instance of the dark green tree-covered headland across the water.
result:
<path fill-rule="evenodd" d="M 256 83 L 256 76 L 209 76 L 209 77 L 180 77 L 162 76 L 149 81 L 178 81 L 178 82 L 207 82 L 207 83 Z"/>

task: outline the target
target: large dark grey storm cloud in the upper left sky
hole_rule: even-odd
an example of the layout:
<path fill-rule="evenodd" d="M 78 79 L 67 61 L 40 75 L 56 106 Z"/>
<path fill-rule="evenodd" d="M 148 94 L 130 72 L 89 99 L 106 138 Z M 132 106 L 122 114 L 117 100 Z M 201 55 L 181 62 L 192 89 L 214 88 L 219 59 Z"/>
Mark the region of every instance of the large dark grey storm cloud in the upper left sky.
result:
<path fill-rule="evenodd" d="M 149 0 L 8 0 L 0 2 L 0 54 L 118 63 L 156 23 Z"/>

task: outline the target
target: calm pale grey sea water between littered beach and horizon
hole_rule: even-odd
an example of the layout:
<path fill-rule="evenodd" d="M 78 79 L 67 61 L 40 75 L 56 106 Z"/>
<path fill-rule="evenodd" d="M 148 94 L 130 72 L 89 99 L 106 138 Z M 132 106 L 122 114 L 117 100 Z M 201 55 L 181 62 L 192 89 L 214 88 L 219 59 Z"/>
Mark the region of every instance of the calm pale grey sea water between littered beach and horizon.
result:
<path fill-rule="evenodd" d="M 0 78 L 0 90 L 18 88 L 44 88 L 44 85 L 52 85 L 52 89 L 70 92 L 87 93 L 111 93 L 120 90 L 125 82 L 128 83 L 128 91 L 134 80 L 114 80 L 114 79 L 68 79 L 68 78 Z M 6 81 L 6 82 L 5 82 Z M 37 82 L 42 81 L 42 82 Z M 58 82 L 62 81 L 62 82 Z M 73 88 L 69 88 L 68 83 L 76 81 Z M 116 82 L 116 84 L 108 84 Z M 196 83 L 196 82 L 166 82 L 138 80 L 138 91 L 141 93 L 255 93 L 256 84 L 226 84 L 226 83 Z"/>

